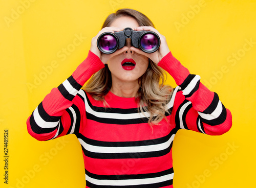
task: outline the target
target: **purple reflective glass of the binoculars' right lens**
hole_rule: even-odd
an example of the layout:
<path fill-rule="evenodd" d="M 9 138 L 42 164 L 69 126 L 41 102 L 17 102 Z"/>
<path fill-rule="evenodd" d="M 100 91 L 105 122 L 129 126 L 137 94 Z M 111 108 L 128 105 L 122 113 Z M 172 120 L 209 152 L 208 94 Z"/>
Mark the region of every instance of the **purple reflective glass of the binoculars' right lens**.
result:
<path fill-rule="evenodd" d="M 145 34 L 140 39 L 141 47 L 147 52 L 152 52 L 156 50 L 156 48 L 158 47 L 158 44 L 159 44 L 158 38 L 153 34 Z"/>

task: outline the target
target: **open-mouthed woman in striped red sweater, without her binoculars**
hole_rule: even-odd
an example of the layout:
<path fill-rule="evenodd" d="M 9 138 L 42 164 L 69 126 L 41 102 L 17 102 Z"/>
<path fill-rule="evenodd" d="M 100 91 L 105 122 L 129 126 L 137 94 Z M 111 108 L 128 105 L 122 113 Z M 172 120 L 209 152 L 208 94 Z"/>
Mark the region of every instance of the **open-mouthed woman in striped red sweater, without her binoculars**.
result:
<path fill-rule="evenodd" d="M 99 35 L 126 27 L 156 32 L 159 50 L 147 54 L 126 39 L 115 53 L 100 53 Z M 134 65 L 127 68 L 125 62 Z M 162 68 L 175 79 L 175 89 L 159 84 Z M 87 187 L 173 187 L 176 132 L 189 129 L 220 135 L 231 124 L 231 113 L 217 93 L 181 65 L 150 19 L 132 9 L 106 18 L 86 60 L 52 89 L 27 121 L 29 133 L 38 140 L 77 136 Z"/>

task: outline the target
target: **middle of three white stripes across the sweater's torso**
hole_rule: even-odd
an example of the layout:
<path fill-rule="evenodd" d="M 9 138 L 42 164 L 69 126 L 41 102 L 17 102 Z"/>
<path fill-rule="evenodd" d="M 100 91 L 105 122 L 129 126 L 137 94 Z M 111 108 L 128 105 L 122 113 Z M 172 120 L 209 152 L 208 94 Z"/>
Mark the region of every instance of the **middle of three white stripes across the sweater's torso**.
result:
<path fill-rule="evenodd" d="M 161 151 L 170 146 L 174 140 L 175 134 L 173 134 L 167 142 L 157 145 L 150 146 L 132 146 L 132 147 L 103 147 L 103 146 L 93 146 L 84 142 L 81 138 L 78 138 L 82 147 L 90 152 L 95 153 L 139 153 L 139 152 L 152 152 Z"/>

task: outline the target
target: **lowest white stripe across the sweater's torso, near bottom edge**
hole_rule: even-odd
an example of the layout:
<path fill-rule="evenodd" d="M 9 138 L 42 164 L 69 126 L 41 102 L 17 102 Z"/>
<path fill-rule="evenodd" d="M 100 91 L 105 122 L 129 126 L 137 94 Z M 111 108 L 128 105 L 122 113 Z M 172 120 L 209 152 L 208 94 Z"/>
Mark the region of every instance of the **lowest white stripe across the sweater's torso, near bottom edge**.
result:
<path fill-rule="evenodd" d="M 91 178 L 90 176 L 86 175 L 86 180 L 95 184 L 95 185 L 118 185 L 118 186 L 125 186 L 125 185 L 143 185 L 143 184 L 153 184 L 153 183 L 160 183 L 167 180 L 171 180 L 174 178 L 174 173 L 167 174 L 160 177 L 155 178 L 144 178 L 144 179 L 125 179 L 125 180 L 98 180 Z"/>

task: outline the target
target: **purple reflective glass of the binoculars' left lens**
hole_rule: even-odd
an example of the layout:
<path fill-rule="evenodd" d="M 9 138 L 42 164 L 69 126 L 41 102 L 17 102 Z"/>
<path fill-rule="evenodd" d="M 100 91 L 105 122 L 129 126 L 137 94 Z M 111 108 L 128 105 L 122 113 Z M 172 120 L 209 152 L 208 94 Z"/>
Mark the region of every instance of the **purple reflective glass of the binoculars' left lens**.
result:
<path fill-rule="evenodd" d="M 109 53 L 115 50 L 117 46 L 116 38 L 112 35 L 103 35 L 99 39 L 99 47 L 102 51 Z"/>

